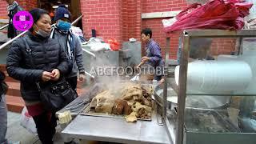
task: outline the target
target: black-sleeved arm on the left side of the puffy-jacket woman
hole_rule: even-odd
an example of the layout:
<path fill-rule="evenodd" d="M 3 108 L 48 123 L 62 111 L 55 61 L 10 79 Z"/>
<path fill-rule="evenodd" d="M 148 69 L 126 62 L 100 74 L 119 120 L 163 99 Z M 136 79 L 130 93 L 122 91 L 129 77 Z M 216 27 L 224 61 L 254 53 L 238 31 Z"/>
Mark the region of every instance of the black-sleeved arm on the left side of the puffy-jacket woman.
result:
<path fill-rule="evenodd" d="M 14 41 L 8 50 L 6 58 L 6 70 L 10 77 L 23 82 L 39 82 L 42 79 L 43 70 L 22 68 L 22 42 Z M 25 45 L 24 45 L 25 46 Z"/>

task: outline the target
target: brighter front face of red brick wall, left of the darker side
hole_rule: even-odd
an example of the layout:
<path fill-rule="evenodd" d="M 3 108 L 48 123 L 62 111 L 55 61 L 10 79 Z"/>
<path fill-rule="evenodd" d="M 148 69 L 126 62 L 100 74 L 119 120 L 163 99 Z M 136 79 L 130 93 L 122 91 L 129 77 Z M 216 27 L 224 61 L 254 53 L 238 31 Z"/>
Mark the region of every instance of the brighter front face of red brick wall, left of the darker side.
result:
<path fill-rule="evenodd" d="M 81 0 L 83 31 L 86 38 L 91 37 L 91 29 L 103 38 L 122 40 L 122 1 L 119 0 Z"/>

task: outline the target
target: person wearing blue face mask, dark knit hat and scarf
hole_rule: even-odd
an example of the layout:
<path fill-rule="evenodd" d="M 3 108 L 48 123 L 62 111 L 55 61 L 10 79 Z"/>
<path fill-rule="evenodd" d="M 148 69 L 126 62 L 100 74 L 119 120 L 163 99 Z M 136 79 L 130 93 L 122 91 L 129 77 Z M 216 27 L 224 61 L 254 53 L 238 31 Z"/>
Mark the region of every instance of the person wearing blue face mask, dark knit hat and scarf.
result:
<path fill-rule="evenodd" d="M 54 14 L 54 21 L 56 21 L 56 24 L 52 27 L 50 38 L 58 40 L 73 62 L 73 69 L 69 76 L 66 77 L 66 80 L 70 83 L 72 89 L 76 90 L 77 81 L 84 82 L 85 80 L 85 70 L 82 62 L 82 45 L 78 37 L 72 34 L 70 30 L 71 14 L 65 5 L 58 6 Z"/>

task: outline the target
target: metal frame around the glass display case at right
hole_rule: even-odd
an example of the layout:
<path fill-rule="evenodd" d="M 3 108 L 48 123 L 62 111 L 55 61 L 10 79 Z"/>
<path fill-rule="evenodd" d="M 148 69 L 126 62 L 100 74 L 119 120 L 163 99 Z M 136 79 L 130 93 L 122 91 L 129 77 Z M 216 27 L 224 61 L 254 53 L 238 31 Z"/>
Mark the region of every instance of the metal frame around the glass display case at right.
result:
<path fill-rule="evenodd" d="M 256 38 L 256 30 L 184 30 L 182 33 L 183 37 L 183 47 L 182 47 L 182 58 L 180 62 L 180 75 L 179 75 L 179 86 L 178 86 L 178 116 L 177 116 L 177 127 L 172 125 L 174 122 L 169 122 L 166 118 L 166 103 L 167 103 L 167 82 L 165 81 L 164 92 L 163 92 L 163 106 L 162 106 L 162 116 L 164 118 L 167 134 L 172 142 L 176 144 L 184 143 L 185 128 L 184 128 L 184 111 L 185 111 L 185 102 L 186 102 L 186 77 L 187 77 L 187 66 L 188 66 L 188 57 L 190 52 L 190 38 L 237 38 L 238 40 L 238 51 L 241 51 L 240 48 L 242 38 Z M 169 49 L 170 49 L 170 38 L 166 38 L 166 59 L 169 58 Z M 168 75 L 166 76 L 168 78 Z M 195 134 L 196 135 L 196 134 Z M 254 133 L 238 133 L 238 134 L 216 134 L 216 138 L 234 138 L 241 140 L 243 139 L 254 138 L 252 142 L 256 143 L 256 134 Z M 191 134 L 189 135 L 191 136 Z M 202 134 L 202 137 L 206 134 Z M 218 141 L 215 141 L 218 143 Z M 247 142 L 248 143 L 248 142 Z M 251 143 L 251 142 L 250 142 Z"/>

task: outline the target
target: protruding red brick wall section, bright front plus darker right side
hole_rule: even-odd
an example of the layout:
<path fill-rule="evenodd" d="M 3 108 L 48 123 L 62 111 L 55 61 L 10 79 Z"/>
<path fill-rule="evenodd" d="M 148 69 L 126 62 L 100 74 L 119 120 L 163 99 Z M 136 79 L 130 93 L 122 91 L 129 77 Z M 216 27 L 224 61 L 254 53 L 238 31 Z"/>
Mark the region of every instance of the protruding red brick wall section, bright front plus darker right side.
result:
<path fill-rule="evenodd" d="M 81 0 L 81 11 L 84 14 L 83 30 L 90 38 L 91 29 L 103 38 L 116 38 L 118 42 L 129 38 L 140 38 L 142 30 L 141 0 Z"/>

